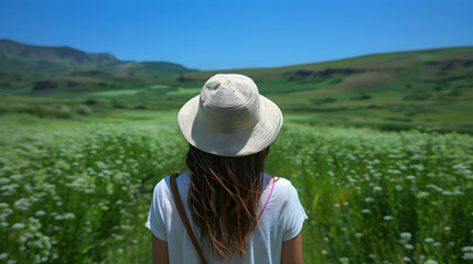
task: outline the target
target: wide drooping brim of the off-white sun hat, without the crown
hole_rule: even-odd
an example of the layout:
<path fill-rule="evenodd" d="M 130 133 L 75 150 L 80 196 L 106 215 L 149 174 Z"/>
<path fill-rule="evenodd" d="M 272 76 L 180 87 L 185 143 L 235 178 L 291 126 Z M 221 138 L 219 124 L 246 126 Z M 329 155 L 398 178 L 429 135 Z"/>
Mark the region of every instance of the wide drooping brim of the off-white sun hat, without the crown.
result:
<path fill-rule="evenodd" d="M 219 156 L 247 156 L 265 150 L 276 139 L 282 125 L 281 110 L 260 96 L 260 119 L 252 127 L 238 132 L 221 132 L 205 127 L 198 117 L 196 96 L 179 111 L 179 128 L 190 144 Z"/>

